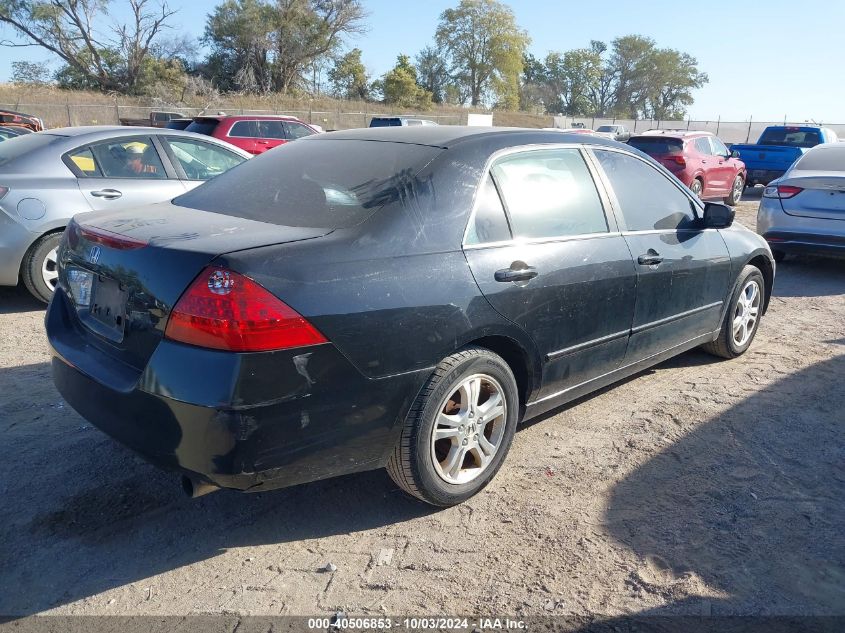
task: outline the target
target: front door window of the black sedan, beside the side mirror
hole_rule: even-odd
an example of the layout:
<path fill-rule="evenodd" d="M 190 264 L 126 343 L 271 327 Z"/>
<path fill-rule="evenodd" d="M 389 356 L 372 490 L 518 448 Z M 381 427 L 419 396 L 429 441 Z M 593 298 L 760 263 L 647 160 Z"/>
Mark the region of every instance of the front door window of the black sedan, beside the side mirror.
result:
<path fill-rule="evenodd" d="M 629 231 L 694 228 L 692 201 L 654 167 L 620 152 L 596 150 Z"/>

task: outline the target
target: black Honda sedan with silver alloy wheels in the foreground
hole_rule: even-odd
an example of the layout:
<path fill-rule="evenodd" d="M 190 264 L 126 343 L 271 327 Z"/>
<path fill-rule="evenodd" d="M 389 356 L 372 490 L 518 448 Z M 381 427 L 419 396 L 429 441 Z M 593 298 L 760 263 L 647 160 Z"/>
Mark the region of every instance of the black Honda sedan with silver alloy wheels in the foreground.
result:
<path fill-rule="evenodd" d="M 387 467 L 455 504 L 520 421 L 696 346 L 748 349 L 774 262 L 732 220 L 600 138 L 314 135 L 172 202 L 77 216 L 53 376 L 194 495 Z"/>

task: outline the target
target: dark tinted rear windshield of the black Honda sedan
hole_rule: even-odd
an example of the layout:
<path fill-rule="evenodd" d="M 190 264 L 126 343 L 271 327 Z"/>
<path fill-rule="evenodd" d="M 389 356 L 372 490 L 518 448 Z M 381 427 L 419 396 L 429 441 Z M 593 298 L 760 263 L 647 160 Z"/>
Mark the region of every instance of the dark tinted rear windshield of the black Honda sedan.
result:
<path fill-rule="evenodd" d="M 282 226 L 346 228 L 415 188 L 442 150 L 357 140 L 288 143 L 173 200 L 182 207 Z"/>

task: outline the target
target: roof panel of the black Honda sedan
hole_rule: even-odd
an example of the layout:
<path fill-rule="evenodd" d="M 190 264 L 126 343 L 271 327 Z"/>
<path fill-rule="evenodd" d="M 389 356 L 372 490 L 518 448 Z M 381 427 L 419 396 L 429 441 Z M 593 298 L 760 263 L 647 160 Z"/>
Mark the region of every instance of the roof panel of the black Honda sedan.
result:
<path fill-rule="evenodd" d="M 369 127 L 315 134 L 300 141 L 359 140 L 394 143 L 411 143 L 448 149 L 472 140 L 507 138 L 513 136 L 519 144 L 530 143 L 577 143 L 608 145 L 620 144 L 592 134 L 573 134 L 537 128 L 469 127 L 465 125 L 431 125 L 413 127 Z M 523 138 L 517 139 L 517 136 Z"/>

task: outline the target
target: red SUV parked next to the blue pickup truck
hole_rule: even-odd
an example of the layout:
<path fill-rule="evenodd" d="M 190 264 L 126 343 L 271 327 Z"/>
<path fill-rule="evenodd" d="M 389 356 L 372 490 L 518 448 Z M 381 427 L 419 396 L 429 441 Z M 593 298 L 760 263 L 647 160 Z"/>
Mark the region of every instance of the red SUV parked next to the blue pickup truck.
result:
<path fill-rule="evenodd" d="M 653 130 L 629 145 L 671 171 L 699 198 L 722 198 L 733 206 L 745 188 L 745 163 L 710 132 Z"/>

